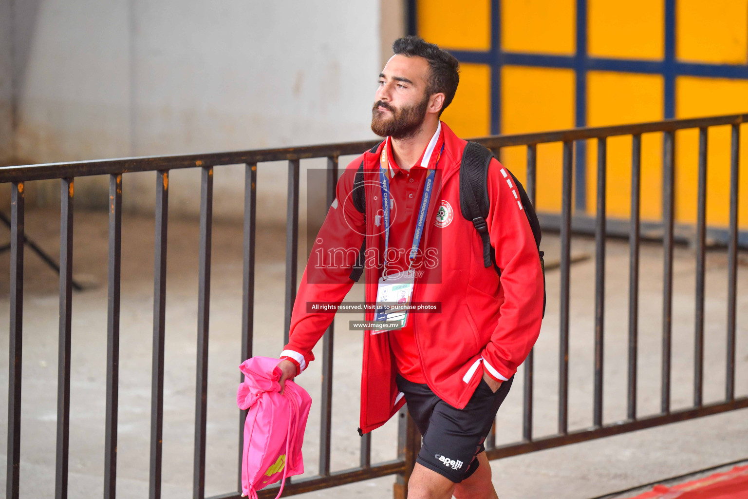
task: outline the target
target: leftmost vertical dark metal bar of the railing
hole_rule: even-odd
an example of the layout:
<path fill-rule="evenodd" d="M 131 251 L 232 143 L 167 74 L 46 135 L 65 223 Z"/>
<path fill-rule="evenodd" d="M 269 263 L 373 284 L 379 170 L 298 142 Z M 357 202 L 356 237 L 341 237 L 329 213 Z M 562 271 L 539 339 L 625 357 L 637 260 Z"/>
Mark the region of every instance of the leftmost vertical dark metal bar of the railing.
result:
<path fill-rule="evenodd" d="M 23 340 L 24 183 L 10 185 L 10 338 L 7 376 L 7 474 L 5 497 L 18 499 L 21 462 L 21 367 Z"/>

